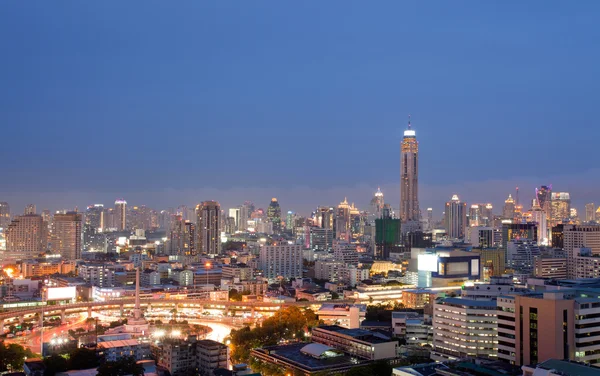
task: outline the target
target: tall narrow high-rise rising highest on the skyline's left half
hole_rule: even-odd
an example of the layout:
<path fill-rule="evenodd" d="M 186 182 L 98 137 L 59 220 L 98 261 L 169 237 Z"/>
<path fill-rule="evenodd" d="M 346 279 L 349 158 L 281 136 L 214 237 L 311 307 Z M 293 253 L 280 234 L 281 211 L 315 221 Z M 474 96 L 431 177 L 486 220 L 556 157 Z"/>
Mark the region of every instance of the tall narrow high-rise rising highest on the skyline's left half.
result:
<path fill-rule="evenodd" d="M 198 252 L 206 255 L 221 253 L 221 206 L 216 201 L 204 201 L 196 206 L 198 220 Z"/>

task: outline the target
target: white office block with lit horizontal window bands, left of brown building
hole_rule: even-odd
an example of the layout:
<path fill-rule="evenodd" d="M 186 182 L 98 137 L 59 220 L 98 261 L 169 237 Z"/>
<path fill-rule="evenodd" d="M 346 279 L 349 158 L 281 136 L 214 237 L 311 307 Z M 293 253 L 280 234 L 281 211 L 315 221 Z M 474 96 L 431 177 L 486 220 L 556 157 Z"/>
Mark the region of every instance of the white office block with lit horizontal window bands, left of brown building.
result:
<path fill-rule="evenodd" d="M 496 301 L 444 298 L 433 304 L 433 350 L 439 362 L 495 358 L 498 352 Z"/>

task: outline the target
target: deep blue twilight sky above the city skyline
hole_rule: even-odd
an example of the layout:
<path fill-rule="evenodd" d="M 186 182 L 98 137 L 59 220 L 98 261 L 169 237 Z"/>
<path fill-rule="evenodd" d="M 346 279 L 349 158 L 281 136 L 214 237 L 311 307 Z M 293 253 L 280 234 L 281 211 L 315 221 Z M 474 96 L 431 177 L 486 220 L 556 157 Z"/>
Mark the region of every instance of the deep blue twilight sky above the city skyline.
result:
<path fill-rule="evenodd" d="M 5 1 L 0 201 L 600 203 L 597 1 Z M 526 206 L 527 208 L 527 206 Z M 499 210 L 496 210 L 499 212 Z"/>

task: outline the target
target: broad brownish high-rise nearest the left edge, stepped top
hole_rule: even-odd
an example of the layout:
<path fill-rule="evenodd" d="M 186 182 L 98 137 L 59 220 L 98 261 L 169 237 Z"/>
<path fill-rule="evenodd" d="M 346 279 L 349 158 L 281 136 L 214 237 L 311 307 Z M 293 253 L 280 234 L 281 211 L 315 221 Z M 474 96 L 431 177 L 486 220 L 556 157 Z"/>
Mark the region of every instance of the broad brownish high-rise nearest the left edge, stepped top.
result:
<path fill-rule="evenodd" d="M 6 250 L 23 254 L 23 258 L 37 257 L 46 250 L 47 230 L 41 215 L 27 214 L 16 217 L 6 229 Z"/>

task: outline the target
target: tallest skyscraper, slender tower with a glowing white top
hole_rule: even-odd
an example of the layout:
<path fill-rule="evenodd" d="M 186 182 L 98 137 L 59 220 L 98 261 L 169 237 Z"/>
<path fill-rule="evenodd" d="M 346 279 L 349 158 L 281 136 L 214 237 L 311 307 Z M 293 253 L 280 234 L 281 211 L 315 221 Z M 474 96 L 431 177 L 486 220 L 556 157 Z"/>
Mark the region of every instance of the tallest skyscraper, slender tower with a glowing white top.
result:
<path fill-rule="evenodd" d="M 411 129 L 410 116 L 400 145 L 400 219 L 403 223 L 420 221 L 419 142 Z"/>

